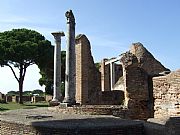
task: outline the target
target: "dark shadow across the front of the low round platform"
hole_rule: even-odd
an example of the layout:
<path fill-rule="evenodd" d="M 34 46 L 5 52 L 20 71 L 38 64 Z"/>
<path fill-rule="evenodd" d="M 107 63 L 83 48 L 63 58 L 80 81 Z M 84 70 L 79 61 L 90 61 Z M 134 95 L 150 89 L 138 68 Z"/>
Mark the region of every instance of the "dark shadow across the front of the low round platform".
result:
<path fill-rule="evenodd" d="M 144 135 L 142 122 L 117 118 L 39 121 L 32 126 L 38 134 L 46 135 Z"/>

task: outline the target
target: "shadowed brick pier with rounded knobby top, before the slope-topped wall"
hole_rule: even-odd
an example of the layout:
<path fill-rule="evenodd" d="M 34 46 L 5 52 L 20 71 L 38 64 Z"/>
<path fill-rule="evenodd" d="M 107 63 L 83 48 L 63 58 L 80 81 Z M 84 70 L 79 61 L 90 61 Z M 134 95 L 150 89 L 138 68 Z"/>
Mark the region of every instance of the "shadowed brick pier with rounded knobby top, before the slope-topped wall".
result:
<path fill-rule="evenodd" d="M 135 55 L 127 52 L 121 58 L 124 68 L 125 106 L 129 109 L 131 118 L 147 119 L 148 109 L 148 75 L 138 67 Z"/>

